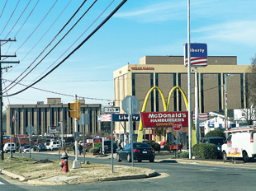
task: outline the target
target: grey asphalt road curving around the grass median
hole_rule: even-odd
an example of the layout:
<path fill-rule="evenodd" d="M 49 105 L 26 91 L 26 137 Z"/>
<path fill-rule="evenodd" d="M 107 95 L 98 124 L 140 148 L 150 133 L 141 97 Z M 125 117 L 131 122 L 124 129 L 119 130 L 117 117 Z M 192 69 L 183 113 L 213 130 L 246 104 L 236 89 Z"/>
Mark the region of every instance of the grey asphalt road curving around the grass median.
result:
<path fill-rule="evenodd" d="M 35 154 L 35 156 L 34 156 Z M 21 155 L 15 153 L 15 155 Z M 33 153 L 32 157 L 59 159 L 59 156 L 46 153 Z M 83 158 L 81 158 L 82 160 Z M 73 160 L 73 157 L 70 157 Z M 80 160 L 80 161 L 81 161 Z M 107 158 L 87 158 L 87 161 L 102 164 L 111 164 Z M 131 165 L 130 163 L 114 161 L 114 165 Z M 126 181 L 102 182 L 97 184 L 76 184 L 59 186 L 28 186 L 18 185 L 17 180 L 9 179 L 10 183 L 0 175 L 0 190 L 254 190 L 256 179 L 256 165 L 234 164 L 183 164 L 175 160 L 165 160 L 154 163 L 135 162 L 135 166 L 150 168 L 159 173 L 159 176 L 150 179 L 135 179 Z"/>

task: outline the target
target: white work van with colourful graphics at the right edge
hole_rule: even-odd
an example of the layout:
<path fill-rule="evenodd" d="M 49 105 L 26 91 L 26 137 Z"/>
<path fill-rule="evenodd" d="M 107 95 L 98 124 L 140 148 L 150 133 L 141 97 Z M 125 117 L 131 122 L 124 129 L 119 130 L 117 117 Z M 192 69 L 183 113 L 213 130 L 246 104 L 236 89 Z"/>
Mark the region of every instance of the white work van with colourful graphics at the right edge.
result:
<path fill-rule="evenodd" d="M 243 158 L 244 162 L 256 157 L 256 130 L 255 128 L 235 128 L 225 131 L 230 132 L 226 143 L 221 146 L 223 159 L 228 157 Z"/>

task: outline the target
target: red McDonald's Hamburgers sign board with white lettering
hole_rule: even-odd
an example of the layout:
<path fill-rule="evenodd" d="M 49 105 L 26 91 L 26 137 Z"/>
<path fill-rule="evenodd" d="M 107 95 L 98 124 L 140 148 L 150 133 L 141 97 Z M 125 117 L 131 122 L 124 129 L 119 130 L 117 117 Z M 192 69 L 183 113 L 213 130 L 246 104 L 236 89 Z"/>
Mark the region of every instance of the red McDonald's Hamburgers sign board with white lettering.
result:
<path fill-rule="evenodd" d="M 172 127 L 175 121 L 182 123 L 183 127 L 188 126 L 187 111 L 141 112 L 140 114 L 145 128 Z"/>

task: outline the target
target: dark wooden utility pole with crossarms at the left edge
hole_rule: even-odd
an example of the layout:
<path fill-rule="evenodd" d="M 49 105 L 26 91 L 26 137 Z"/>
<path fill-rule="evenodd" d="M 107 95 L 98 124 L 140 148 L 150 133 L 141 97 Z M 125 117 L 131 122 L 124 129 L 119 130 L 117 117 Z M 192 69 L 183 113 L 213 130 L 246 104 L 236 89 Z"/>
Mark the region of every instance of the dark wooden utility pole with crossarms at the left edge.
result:
<path fill-rule="evenodd" d="M 2 69 L 7 69 L 7 68 L 2 68 L 2 63 L 20 63 L 20 61 L 1 61 L 2 57 L 16 57 L 15 55 L 2 55 L 1 54 L 1 46 L 2 46 L 2 42 L 16 42 L 17 40 L 14 38 L 14 40 L 8 39 L 8 40 L 0 40 L 0 144 L 1 144 L 1 157 L 0 160 L 4 160 L 3 158 L 3 139 L 2 139 Z M 11 131 L 10 131 L 10 138 L 11 138 Z"/>

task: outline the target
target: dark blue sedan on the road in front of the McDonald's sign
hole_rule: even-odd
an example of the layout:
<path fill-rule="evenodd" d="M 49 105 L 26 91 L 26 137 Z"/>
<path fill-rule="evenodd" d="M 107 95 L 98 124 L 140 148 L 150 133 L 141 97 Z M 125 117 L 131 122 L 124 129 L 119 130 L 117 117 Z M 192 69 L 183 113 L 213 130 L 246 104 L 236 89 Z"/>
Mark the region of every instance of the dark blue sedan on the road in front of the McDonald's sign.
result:
<path fill-rule="evenodd" d="M 133 142 L 133 153 L 135 161 L 149 160 L 149 162 L 154 162 L 154 148 L 145 142 Z M 123 149 L 117 152 L 116 161 L 131 161 L 131 143 L 126 144 Z"/>

